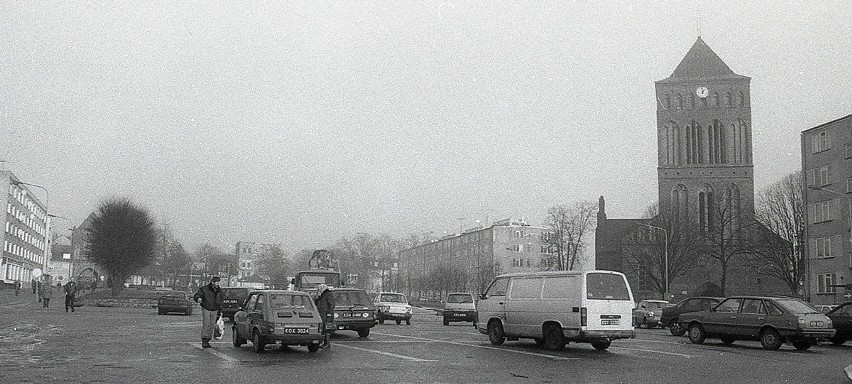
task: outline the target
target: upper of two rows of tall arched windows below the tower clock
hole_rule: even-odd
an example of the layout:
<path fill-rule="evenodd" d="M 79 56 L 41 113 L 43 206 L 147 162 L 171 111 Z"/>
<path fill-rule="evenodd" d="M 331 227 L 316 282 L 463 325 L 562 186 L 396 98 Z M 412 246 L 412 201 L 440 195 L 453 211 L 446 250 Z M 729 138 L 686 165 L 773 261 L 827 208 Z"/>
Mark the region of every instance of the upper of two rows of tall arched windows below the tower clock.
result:
<path fill-rule="evenodd" d="M 666 165 L 747 164 L 748 126 L 742 119 L 728 128 L 719 120 L 706 127 L 690 121 L 681 129 L 670 121 L 663 127 L 661 147 Z"/>

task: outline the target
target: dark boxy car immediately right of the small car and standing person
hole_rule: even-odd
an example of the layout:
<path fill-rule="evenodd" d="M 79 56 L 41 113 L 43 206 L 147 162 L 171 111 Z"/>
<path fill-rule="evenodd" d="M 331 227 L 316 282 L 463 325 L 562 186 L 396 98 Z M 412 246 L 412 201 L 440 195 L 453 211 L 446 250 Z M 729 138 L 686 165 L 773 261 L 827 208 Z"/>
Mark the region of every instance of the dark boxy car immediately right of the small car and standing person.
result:
<path fill-rule="evenodd" d="M 334 297 L 334 323 L 337 330 L 358 332 L 367 337 L 376 326 L 376 307 L 370 302 L 367 291 L 356 288 L 330 288 Z M 333 332 L 332 332 L 333 333 Z"/>

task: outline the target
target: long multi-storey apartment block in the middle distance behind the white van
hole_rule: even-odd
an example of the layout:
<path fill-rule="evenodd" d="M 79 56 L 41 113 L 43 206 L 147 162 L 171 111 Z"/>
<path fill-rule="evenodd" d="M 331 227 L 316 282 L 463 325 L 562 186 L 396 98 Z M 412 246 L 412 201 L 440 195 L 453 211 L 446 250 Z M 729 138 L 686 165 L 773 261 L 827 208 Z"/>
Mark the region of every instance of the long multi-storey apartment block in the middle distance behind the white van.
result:
<path fill-rule="evenodd" d="M 461 234 L 402 250 L 399 254 L 399 287 L 409 297 L 438 299 L 427 279 L 439 267 L 458 272 L 465 281 L 459 288 L 480 293 L 501 273 L 548 269 L 547 228 L 520 220 L 505 219 L 487 228 L 471 228 Z"/>

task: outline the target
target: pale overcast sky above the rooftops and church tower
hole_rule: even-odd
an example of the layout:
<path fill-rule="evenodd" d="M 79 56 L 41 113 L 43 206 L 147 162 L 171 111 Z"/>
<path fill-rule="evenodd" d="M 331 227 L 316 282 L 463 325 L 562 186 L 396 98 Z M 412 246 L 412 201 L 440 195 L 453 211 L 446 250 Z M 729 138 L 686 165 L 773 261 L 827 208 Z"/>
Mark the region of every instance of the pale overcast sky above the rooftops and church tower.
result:
<path fill-rule="evenodd" d="M 0 158 L 60 227 L 126 196 L 188 249 L 295 252 L 601 195 L 640 217 L 654 81 L 699 31 L 752 78 L 757 190 L 852 113 L 848 1 L 610 3 L 2 0 Z"/>

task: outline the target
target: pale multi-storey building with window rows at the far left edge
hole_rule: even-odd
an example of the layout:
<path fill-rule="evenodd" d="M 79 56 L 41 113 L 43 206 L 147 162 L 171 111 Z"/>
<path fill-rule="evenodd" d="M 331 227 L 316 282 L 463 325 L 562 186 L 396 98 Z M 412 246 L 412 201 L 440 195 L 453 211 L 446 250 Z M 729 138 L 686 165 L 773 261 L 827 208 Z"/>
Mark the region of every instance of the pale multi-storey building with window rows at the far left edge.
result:
<path fill-rule="evenodd" d="M 0 193 L 6 214 L 3 216 L 3 253 L 0 257 L 0 279 L 20 281 L 29 286 L 33 270 L 47 270 L 50 249 L 50 218 L 47 206 L 11 171 L 0 170 Z"/>

